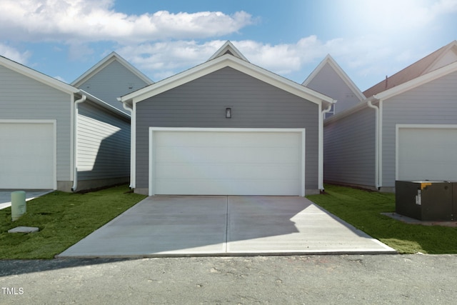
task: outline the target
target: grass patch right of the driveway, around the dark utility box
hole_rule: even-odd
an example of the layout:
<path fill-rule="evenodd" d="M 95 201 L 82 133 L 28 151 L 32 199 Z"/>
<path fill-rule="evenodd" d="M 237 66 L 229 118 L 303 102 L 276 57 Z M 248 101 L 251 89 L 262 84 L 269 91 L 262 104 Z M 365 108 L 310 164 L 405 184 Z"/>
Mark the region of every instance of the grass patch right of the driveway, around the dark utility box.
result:
<path fill-rule="evenodd" d="M 457 254 L 457 228 L 405 224 L 381 215 L 395 211 L 395 194 L 326 185 L 307 198 L 402 254 Z"/>

